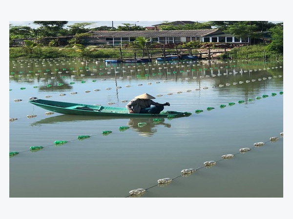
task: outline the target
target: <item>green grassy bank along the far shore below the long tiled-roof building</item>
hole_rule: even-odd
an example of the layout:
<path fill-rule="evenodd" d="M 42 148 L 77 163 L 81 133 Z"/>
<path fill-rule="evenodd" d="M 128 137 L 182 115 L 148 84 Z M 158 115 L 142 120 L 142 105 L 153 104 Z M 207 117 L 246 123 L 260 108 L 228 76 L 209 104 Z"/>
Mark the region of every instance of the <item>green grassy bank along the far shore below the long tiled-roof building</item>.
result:
<path fill-rule="evenodd" d="M 199 49 L 201 52 L 203 49 Z M 204 49 L 208 52 L 208 49 Z M 122 54 L 121 54 L 122 52 Z M 152 57 L 162 54 L 161 50 L 149 51 Z M 192 49 L 192 53 L 198 53 L 197 49 Z M 175 49 L 166 49 L 166 53 L 176 53 Z M 99 48 L 95 50 L 59 48 L 59 47 L 35 47 L 28 50 L 24 47 L 9 48 L 9 58 L 95 58 L 95 59 L 117 59 L 121 55 L 123 58 L 142 57 L 141 50 L 122 49 L 119 48 Z M 144 57 L 147 57 L 146 52 Z M 235 59 L 253 59 L 253 58 L 283 59 L 283 54 L 273 54 L 265 50 L 265 45 L 242 46 L 231 49 L 227 54 L 221 54 L 218 58 L 235 58 Z"/>

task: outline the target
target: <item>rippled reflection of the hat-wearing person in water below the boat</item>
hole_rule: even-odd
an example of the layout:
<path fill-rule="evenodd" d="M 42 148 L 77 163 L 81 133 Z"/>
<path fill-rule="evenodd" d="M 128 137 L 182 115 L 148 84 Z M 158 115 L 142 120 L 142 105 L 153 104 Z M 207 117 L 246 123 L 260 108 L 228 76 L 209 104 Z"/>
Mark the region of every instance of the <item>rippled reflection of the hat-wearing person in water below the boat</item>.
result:
<path fill-rule="evenodd" d="M 129 119 L 127 125 L 144 137 L 149 137 L 157 132 L 155 128 L 157 125 L 164 125 L 167 128 L 171 127 L 171 124 L 165 123 L 165 119 L 162 121 L 154 121 L 153 118 L 132 118 Z"/>

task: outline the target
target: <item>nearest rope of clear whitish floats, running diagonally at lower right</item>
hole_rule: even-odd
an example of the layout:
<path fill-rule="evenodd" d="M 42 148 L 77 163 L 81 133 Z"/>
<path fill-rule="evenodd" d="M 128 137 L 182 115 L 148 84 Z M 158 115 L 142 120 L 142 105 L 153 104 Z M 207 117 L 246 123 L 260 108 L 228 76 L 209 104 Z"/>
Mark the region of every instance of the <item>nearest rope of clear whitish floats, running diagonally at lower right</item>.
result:
<path fill-rule="evenodd" d="M 218 160 L 218 161 L 206 161 L 204 162 L 204 165 L 201 167 L 198 167 L 196 169 L 183 169 L 181 170 L 181 175 L 178 175 L 176 177 L 173 178 L 164 178 L 164 179 L 159 179 L 158 183 L 156 185 L 153 185 L 151 187 L 148 188 L 138 188 L 138 189 L 133 189 L 130 190 L 128 193 L 130 195 L 127 195 L 125 198 L 128 197 L 141 197 L 143 194 L 145 194 L 149 189 L 156 187 L 156 186 L 161 186 L 161 185 L 167 185 L 169 183 L 171 183 L 174 179 L 179 178 L 179 177 L 187 177 L 190 176 L 191 174 L 195 173 L 197 170 L 201 169 L 201 168 L 211 168 L 212 166 L 214 166 L 215 164 L 223 161 L 223 160 L 229 160 L 231 158 L 233 158 L 235 155 L 240 154 L 240 153 L 246 153 L 248 151 L 250 151 L 251 149 L 255 148 L 255 147 L 260 147 L 265 145 L 268 142 L 276 142 L 277 140 L 279 140 L 279 138 L 283 138 L 283 132 L 280 133 L 279 137 L 271 137 L 269 141 L 267 142 L 257 142 L 253 144 L 253 147 L 243 147 L 239 149 L 239 152 L 236 154 L 226 154 L 226 155 L 222 155 L 222 159 Z"/>

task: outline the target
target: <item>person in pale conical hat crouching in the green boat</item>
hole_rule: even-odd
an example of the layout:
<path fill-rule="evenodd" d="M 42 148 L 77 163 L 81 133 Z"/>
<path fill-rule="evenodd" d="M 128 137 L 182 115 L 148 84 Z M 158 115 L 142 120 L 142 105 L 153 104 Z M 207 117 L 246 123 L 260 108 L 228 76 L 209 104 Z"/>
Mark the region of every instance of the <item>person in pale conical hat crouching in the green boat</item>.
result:
<path fill-rule="evenodd" d="M 154 102 L 152 99 L 156 98 L 148 93 L 138 95 L 126 104 L 126 109 L 128 110 L 128 113 L 159 114 L 164 110 L 164 106 L 170 106 L 168 102 L 160 104 Z M 151 105 L 154 107 L 151 107 Z"/>

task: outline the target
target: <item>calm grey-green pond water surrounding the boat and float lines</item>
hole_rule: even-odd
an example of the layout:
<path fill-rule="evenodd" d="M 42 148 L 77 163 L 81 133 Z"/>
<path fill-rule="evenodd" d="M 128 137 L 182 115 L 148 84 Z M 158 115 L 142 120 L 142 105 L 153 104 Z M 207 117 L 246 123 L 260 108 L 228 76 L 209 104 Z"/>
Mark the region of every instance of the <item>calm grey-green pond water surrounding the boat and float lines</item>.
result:
<path fill-rule="evenodd" d="M 9 151 L 19 152 L 9 158 L 11 198 L 284 196 L 282 60 L 105 65 L 103 60 L 23 59 L 11 60 L 9 68 L 9 118 L 14 118 Z M 156 102 L 169 102 L 165 110 L 192 114 L 154 123 L 47 115 L 28 103 L 37 97 L 125 107 L 145 92 Z M 147 125 L 139 127 L 140 122 Z M 120 131 L 121 126 L 130 128 Z M 102 135 L 104 130 L 112 133 Z M 78 140 L 79 135 L 90 137 Z M 56 146 L 57 140 L 67 143 Z M 31 146 L 43 148 L 31 151 Z M 233 157 L 223 159 L 227 154 Z M 207 161 L 215 164 L 206 166 Z M 195 171 L 183 175 L 189 168 Z M 170 182 L 158 183 L 166 178 Z M 139 188 L 146 192 L 130 196 Z"/>

